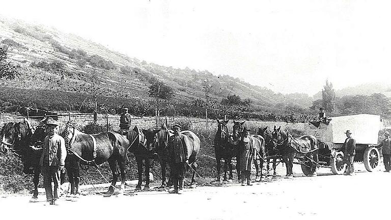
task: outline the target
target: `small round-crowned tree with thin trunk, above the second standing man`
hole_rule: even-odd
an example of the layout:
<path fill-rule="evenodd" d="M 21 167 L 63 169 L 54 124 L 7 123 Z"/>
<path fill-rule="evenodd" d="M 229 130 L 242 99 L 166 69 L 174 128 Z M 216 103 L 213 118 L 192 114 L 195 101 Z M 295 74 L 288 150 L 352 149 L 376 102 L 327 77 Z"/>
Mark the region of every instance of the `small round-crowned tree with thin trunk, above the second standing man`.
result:
<path fill-rule="evenodd" d="M 157 78 L 152 78 L 150 80 L 151 86 L 149 87 L 148 94 L 153 98 L 155 104 L 155 117 L 156 123 L 160 126 L 160 108 L 161 100 L 170 100 L 174 97 L 174 90 L 165 85 L 162 81 Z"/>

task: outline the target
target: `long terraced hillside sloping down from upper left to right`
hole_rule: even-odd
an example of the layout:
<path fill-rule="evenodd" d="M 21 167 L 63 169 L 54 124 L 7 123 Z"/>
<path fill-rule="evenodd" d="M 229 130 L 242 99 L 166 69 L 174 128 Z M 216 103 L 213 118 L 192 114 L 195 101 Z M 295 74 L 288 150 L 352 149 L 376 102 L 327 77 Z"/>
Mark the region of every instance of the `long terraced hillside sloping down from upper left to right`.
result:
<path fill-rule="evenodd" d="M 100 96 L 140 101 L 148 100 L 149 81 L 156 77 L 174 88 L 178 102 L 205 97 L 204 86 L 208 86 L 210 97 L 216 101 L 236 94 L 243 99 L 252 99 L 255 109 L 263 111 L 273 109 L 276 104 L 281 106 L 281 103 L 302 107 L 312 104 L 312 97 L 306 94 L 284 95 L 228 75 L 216 76 L 207 70 L 175 69 L 147 63 L 41 25 L 0 17 L 0 30 L 0 45 L 8 46 L 9 60 L 20 65 L 21 73 L 12 81 L 0 79 L 3 88 L 88 96 L 91 78 L 98 77 L 102 82 Z"/>

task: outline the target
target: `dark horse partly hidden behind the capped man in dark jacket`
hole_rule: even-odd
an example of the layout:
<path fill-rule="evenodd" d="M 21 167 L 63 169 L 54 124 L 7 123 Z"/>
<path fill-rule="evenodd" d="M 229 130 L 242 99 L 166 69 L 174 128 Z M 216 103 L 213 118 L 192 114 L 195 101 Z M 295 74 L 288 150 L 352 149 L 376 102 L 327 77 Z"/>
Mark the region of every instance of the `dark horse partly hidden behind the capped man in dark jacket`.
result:
<path fill-rule="evenodd" d="M 170 163 L 169 152 L 167 151 L 167 145 L 169 137 L 174 135 L 173 131 L 167 129 L 166 127 L 162 127 L 161 129 L 150 128 L 148 130 L 144 130 L 147 137 L 147 146 L 154 145 L 158 154 L 158 158 L 161 165 L 161 176 L 162 183 L 159 188 L 163 189 L 166 186 L 165 182 L 165 169 L 166 164 Z M 195 135 L 192 131 L 183 130 L 180 133 L 186 136 L 185 143 L 188 150 L 189 155 L 189 166 L 193 170 L 193 175 L 191 178 L 190 187 L 195 187 L 195 169 L 197 169 L 197 154 L 200 151 L 201 141 L 197 135 Z M 171 172 L 170 172 L 171 173 Z M 171 174 L 170 174 L 171 176 Z M 172 179 L 172 178 L 170 178 Z"/>

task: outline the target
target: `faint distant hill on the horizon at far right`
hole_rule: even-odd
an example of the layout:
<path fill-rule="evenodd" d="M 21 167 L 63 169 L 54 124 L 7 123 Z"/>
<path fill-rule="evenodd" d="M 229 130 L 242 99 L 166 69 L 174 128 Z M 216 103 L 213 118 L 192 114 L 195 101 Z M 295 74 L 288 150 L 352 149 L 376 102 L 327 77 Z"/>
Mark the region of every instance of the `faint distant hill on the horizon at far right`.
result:
<path fill-rule="evenodd" d="M 336 90 L 336 96 L 343 97 L 347 95 L 372 95 L 374 93 L 382 93 L 387 97 L 391 97 L 391 82 L 373 82 L 361 84 L 355 87 L 346 87 Z M 322 98 L 322 91 L 313 96 L 314 100 Z"/>

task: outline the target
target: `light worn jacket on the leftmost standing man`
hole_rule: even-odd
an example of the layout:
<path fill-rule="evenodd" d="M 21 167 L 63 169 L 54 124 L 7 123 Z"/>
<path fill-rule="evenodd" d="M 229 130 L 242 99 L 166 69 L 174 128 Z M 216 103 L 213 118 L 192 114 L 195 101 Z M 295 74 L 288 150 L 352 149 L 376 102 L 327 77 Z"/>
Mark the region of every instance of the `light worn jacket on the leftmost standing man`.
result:
<path fill-rule="evenodd" d="M 39 164 L 41 167 L 46 166 L 65 166 L 65 158 L 67 157 L 67 149 L 62 136 L 54 134 L 47 135 L 43 141 L 43 149 Z"/>

